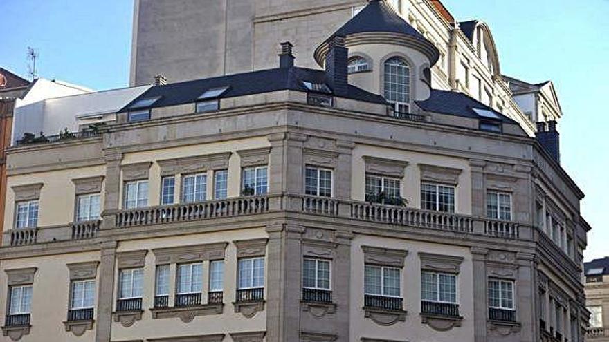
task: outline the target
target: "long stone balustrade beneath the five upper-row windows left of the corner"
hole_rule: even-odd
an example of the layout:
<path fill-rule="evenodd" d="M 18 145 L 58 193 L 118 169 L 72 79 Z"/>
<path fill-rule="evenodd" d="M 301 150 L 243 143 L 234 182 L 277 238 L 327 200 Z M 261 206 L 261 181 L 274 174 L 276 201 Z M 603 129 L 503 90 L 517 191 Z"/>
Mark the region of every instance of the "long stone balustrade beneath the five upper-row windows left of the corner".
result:
<path fill-rule="evenodd" d="M 157 225 L 160 223 L 205 220 L 264 213 L 269 210 L 266 196 L 229 198 L 160 207 L 127 209 L 116 214 L 116 227 Z"/>

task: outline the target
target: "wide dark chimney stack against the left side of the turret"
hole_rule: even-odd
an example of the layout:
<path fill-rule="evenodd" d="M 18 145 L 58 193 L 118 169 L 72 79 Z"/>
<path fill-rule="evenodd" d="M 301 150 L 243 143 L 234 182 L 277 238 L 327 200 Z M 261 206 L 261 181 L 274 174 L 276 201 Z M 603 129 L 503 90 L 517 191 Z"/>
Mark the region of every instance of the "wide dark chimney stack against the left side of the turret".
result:
<path fill-rule="evenodd" d="M 347 57 L 349 49 L 345 47 L 345 37 L 334 36 L 329 41 L 326 55 L 326 77 L 334 95 L 347 95 Z"/>

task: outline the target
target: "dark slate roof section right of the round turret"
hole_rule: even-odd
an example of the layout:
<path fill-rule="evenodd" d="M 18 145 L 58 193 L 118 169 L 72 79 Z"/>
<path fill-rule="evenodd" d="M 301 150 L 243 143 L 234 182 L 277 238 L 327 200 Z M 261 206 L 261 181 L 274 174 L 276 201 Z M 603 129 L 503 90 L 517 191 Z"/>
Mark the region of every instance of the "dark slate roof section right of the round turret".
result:
<path fill-rule="evenodd" d="M 417 101 L 416 103 L 421 109 L 428 112 L 469 117 L 471 119 L 489 119 L 488 117 L 478 115 L 472 110 L 472 108 L 479 108 L 486 111 L 492 111 L 502 122 L 518 124 L 518 122 L 511 120 L 509 117 L 495 111 L 486 104 L 483 104 L 464 93 L 457 93 L 456 91 L 439 91 L 433 89 L 431 91 L 431 96 L 428 99 L 425 101 Z"/>

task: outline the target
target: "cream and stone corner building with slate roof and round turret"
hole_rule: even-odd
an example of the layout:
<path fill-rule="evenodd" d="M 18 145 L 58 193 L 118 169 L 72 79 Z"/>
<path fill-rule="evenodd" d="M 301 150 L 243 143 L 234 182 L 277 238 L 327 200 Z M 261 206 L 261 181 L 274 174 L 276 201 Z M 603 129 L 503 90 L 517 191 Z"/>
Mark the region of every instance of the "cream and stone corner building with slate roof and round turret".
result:
<path fill-rule="evenodd" d="M 202 14 L 184 3 L 176 18 Z M 144 5 L 164 4 L 138 1 L 138 37 L 158 14 Z M 277 39 L 279 58 L 256 48 L 253 71 L 158 82 L 93 134 L 10 148 L 4 336 L 583 341 L 590 227 L 556 122 L 533 137 L 434 88 L 442 50 L 391 6 L 328 21 L 314 44 Z"/>

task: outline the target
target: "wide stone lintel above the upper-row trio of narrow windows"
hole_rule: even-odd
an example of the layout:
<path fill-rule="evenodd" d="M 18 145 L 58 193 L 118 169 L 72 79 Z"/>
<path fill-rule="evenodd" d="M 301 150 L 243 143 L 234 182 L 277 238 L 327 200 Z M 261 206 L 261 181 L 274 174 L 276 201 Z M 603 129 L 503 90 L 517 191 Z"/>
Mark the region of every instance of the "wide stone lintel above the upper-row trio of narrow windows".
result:
<path fill-rule="evenodd" d="M 215 153 L 208 155 L 196 155 L 194 157 L 157 160 L 161 167 L 161 175 L 175 175 L 176 173 L 196 173 L 208 170 L 228 169 L 230 152 Z"/>

